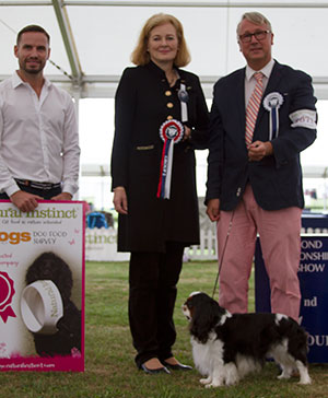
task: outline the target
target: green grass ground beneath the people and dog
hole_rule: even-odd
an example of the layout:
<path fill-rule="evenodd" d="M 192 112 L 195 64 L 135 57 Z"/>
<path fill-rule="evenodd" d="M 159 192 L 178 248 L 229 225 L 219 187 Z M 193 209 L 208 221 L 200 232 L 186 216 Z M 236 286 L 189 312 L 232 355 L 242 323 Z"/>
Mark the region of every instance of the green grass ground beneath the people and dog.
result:
<path fill-rule="evenodd" d="M 211 294 L 216 262 L 188 262 L 181 273 L 176 302 L 175 354 L 192 364 L 187 321 L 180 306 L 191 291 Z M 254 288 L 250 286 L 250 297 Z M 274 364 L 249 375 L 234 387 L 206 389 L 196 370 L 149 376 L 137 370 L 127 318 L 128 265 L 86 264 L 85 372 L 1 373 L 1 398 L 328 398 L 328 366 L 311 365 L 311 386 L 297 379 L 277 381 Z M 254 300 L 249 303 L 254 308 Z"/>

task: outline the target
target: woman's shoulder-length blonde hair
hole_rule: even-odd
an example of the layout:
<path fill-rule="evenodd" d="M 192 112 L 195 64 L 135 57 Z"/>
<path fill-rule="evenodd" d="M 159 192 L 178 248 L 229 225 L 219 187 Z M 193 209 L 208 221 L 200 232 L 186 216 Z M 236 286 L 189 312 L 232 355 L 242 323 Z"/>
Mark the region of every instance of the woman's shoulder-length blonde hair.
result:
<path fill-rule="evenodd" d="M 166 23 L 171 23 L 175 27 L 179 44 L 179 49 L 175 57 L 174 65 L 179 68 L 185 67 L 190 62 L 190 52 L 185 40 L 184 27 L 181 23 L 173 15 L 160 13 L 151 16 L 141 30 L 137 47 L 131 54 L 131 61 L 134 65 L 143 66 L 149 63 L 150 55 L 147 50 L 147 47 L 150 33 L 154 27 L 164 25 Z"/>

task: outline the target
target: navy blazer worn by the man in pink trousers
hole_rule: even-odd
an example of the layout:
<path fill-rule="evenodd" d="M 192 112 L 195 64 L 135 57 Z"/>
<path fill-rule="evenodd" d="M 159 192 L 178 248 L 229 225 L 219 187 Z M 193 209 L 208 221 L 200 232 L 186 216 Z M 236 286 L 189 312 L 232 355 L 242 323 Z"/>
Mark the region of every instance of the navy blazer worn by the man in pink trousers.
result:
<path fill-rule="evenodd" d="M 295 110 L 316 110 L 312 80 L 302 71 L 274 62 L 262 98 L 278 92 L 279 136 L 271 141 L 273 155 L 248 162 L 245 144 L 245 71 L 239 69 L 214 85 L 210 121 L 207 198 L 220 198 L 221 210 L 233 210 L 247 183 L 265 210 L 304 207 L 300 152 L 316 139 L 316 129 L 292 127 Z M 270 113 L 261 102 L 253 141 L 269 140 Z"/>

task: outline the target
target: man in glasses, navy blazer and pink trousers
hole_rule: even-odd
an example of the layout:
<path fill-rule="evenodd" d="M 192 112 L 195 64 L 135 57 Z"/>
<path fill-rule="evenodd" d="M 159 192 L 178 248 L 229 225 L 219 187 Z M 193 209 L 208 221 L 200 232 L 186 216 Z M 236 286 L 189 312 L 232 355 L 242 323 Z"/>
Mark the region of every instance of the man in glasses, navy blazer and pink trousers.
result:
<path fill-rule="evenodd" d="M 245 13 L 237 38 L 247 66 L 216 82 L 211 110 L 206 200 L 218 221 L 219 258 L 224 251 L 219 302 L 232 313 L 247 312 L 259 234 L 272 312 L 297 319 L 300 152 L 316 139 L 316 98 L 307 74 L 272 59 L 273 33 L 263 15 Z"/>

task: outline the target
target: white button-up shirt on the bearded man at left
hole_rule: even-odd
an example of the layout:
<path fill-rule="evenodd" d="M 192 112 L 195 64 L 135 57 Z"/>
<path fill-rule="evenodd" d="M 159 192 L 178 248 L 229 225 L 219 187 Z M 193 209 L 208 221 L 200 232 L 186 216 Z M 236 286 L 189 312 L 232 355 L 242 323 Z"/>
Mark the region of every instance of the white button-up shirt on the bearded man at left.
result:
<path fill-rule="evenodd" d="M 40 96 L 15 72 L 0 83 L 0 191 L 20 190 L 14 178 L 62 183 L 73 195 L 79 179 L 79 133 L 70 95 L 45 79 Z"/>

